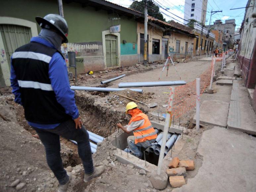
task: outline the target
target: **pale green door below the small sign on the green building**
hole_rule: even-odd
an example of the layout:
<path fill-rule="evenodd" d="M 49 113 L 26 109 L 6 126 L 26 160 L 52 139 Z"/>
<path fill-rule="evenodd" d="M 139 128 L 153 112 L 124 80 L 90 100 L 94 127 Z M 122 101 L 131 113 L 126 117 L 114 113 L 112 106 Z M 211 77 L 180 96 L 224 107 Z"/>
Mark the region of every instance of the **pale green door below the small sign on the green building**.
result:
<path fill-rule="evenodd" d="M 118 66 L 118 42 L 117 36 L 108 34 L 105 36 L 106 39 L 106 62 L 107 67 Z"/>

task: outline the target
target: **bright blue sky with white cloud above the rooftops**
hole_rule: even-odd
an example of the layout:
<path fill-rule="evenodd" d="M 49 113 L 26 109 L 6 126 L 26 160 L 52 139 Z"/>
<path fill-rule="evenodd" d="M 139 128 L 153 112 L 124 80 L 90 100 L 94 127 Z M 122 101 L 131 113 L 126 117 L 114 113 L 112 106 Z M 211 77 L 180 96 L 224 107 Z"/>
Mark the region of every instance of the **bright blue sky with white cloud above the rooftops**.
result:
<path fill-rule="evenodd" d="M 132 0 L 108 0 L 110 2 L 119 4 L 124 7 L 129 7 L 130 4 L 132 4 Z M 163 8 L 170 8 L 169 11 L 165 11 L 160 8 L 161 12 L 164 12 L 165 14 L 169 15 L 164 15 L 164 18 L 166 21 L 169 20 L 174 20 L 179 23 L 183 23 L 183 20 L 174 16 L 173 14 L 184 18 L 184 5 L 185 5 L 185 0 L 154 0 L 156 3 L 161 5 Z M 244 13 L 245 13 L 245 8 L 243 9 L 236 9 L 236 10 L 230 10 L 232 8 L 240 8 L 240 7 L 245 7 L 247 3 L 247 0 L 208 0 L 207 4 L 207 13 L 206 13 L 206 21 L 207 25 L 209 24 L 210 20 L 210 15 L 211 10 L 217 11 L 217 10 L 222 10 L 222 13 L 215 13 L 212 16 L 212 22 L 215 20 L 222 20 L 223 23 L 227 19 L 235 19 L 235 24 L 236 28 L 239 28 L 241 26 L 241 23 L 243 21 Z M 171 14 L 171 13 L 173 14 Z M 173 17 L 173 18 L 172 18 Z M 188 19 L 188 15 L 185 14 L 185 19 Z M 178 20 L 178 21 L 177 21 Z"/>

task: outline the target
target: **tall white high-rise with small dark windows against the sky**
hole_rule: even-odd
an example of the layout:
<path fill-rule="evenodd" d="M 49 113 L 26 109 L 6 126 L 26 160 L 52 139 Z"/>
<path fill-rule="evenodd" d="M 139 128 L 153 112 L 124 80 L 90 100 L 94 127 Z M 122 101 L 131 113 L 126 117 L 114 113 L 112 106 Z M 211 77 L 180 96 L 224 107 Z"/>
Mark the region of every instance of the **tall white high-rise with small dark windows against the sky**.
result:
<path fill-rule="evenodd" d="M 205 24 L 208 0 L 185 0 L 184 19 L 194 19 Z M 187 22 L 184 22 L 187 24 Z"/>

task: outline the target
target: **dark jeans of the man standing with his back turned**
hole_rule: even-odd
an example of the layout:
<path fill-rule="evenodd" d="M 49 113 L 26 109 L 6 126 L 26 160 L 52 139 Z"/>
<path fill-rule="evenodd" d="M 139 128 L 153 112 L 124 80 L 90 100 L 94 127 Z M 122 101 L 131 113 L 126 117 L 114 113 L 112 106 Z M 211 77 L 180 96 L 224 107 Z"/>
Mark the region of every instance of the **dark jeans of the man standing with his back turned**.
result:
<path fill-rule="evenodd" d="M 91 156 L 89 134 L 84 126 L 82 126 L 81 129 L 76 129 L 75 122 L 73 120 L 67 120 L 62 122 L 54 129 L 33 128 L 44 145 L 47 164 L 61 185 L 68 182 L 69 176 L 67 175 L 66 170 L 63 168 L 60 155 L 60 136 L 77 141 L 78 154 L 82 160 L 85 173 L 90 174 L 93 172 L 94 168 Z"/>

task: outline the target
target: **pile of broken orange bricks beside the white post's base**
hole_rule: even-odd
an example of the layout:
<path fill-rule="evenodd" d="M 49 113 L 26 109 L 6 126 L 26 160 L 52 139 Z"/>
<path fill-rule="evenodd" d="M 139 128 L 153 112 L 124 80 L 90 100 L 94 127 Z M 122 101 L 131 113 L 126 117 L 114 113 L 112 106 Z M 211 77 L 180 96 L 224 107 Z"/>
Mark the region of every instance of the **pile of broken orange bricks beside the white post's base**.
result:
<path fill-rule="evenodd" d="M 169 164 L 169 169 L 166 170 L 169 181 L 172 187 L 181 187 L 185 185 L 184 175 L 186 170 L 194 170 L 195 165 L 192 160 L 181 160 L 178 157 L 172 159 Z"/>

